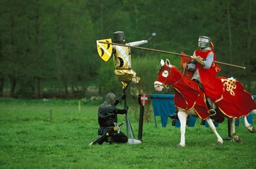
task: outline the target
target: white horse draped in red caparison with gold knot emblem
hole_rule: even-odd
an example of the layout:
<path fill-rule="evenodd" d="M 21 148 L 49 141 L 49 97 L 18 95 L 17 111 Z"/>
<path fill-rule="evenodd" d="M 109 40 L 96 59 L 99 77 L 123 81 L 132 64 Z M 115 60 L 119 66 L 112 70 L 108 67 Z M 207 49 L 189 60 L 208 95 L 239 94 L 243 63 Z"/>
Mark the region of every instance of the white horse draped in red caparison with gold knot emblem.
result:
<path fill-rule="evenodd" d="M 162 91 L 163 87 L 169 84 L 175 91 L 174 102 L 178 108 L 178 118 L 180 120 L 180 144 L 185 146 L 185 127 L 188 115 L 206 120 L 209 127 L 217 137 L 216 144 L 223 144 L 223 139 L 216 132 L 216 127 L 211 119 L 222 123 L 225 118 L 231 123 L 231 136 L 236 142 L 240 142 L 240 137 L 235 133 L 235 118 L 244 117 L 245 127 L 250 132 L 255 132 L 255 129 L 246 118 L 252 111 L 256 110 L 256 102 L 252 94 L 245 91 L 243 84 L 233 78 L 216 77 L 223 84 L 224 92 L 216 104 L 216 115 L 210 117 L 209 108 L 206 106 L 206 96 L 202 89 L 199 88 L 197 82 L 194 82 L 183 75 L 178 68 L 170 64 L 166 59 L 161 60 L 161 70 L 158 72 L 158 79 L 154 82 L 154 87 L 157 91 Z"/>

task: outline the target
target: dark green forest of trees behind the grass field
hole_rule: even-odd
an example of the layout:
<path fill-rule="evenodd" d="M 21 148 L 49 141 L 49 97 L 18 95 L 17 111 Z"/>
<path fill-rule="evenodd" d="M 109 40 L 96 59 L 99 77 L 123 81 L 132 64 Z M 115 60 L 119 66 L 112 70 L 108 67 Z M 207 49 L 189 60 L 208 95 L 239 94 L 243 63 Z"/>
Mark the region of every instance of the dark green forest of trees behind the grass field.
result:
<path fill-rule="evenodd" d="M 256 94 L 256 1 L 252 0 L 1 0 L 0 97 L 84 98 L 122 93 L 112 58 L 96 40 L 122 30 L 127 42 L 156 37 L 144 47 L 192 55 L 199 35 L 211 37 L 220 76 L 235 77 Z M 180 56 L 132 49 L 141 77 L 129 93 L 153 93 L 161 58 L 180 68 Z M 168 91 L 171 93 L 172 91 Z"/>

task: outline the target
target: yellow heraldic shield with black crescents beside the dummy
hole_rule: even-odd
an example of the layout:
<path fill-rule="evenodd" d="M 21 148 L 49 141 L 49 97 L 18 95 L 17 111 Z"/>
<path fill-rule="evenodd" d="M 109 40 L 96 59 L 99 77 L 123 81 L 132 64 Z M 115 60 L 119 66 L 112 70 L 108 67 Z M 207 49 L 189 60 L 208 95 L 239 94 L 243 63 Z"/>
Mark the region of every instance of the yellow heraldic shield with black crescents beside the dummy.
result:
<path fill-rule="evenodd" d="M 112 43 L 112 39 L 102 39 L 97 40 L 97 51 L 100 56 L 100 58 L 103 59 L 103 61 L 108 61 L 110 59 L 110 56 L 112 55 L 112 44 L 103 44 L 100 42 L 109 42 Z"/>

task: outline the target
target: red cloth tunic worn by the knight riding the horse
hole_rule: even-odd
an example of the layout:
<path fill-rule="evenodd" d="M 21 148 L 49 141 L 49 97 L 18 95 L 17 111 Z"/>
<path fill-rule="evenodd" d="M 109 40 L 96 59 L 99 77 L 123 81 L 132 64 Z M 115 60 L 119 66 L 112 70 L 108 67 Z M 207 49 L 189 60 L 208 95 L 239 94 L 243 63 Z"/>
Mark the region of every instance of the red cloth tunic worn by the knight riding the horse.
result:
<path fill-rule="evenodd" d="M 196 56 L 200 56 L 203 59 L 206 59 L 208 54 L 210 52 L 214 51 L 201 51 L 197 50 L 195 51 Z M 216 57 L 214 54 L 214 61 L 216 61 Z M 203 65 L 200 65 L 197 63 L 197 69 L 199 71 L 200 79 L 202 82 L 202 85 L 204 87 L 204 94 L 211 99 L 211 101 L 214 101 L 216 103 L 217 101 L 221 100 L 223 98 L 223 83 L 221 80 L 217 79 L 215 76 L 216 74 L 221 70 L 219 65 L 216 63 L 211 64 L 211 68 L 205 69 L 203 68 Z"/>

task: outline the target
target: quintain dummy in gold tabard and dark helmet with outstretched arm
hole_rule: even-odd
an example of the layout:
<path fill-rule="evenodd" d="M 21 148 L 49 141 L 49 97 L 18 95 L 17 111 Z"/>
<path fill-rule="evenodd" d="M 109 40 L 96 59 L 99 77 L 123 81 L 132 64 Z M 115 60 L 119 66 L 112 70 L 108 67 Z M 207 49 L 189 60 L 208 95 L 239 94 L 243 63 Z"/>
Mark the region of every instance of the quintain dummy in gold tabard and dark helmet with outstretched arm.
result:
<path fill-rule="evenodd" d="M 114 42 L 117 44 L 126 44 L 124 32 L 114 32 Z M 147 40 L 141 40 L 138 42 L 130 42 L 126 45 L 139 46 L 146 43 L 148 43 Z M 140 77 L 137 77 L 136 72 L 132 70 L 131 49 L 126 46 L 113 45 L 113 54 L 115 75 L 117 75 L 118 80 L 122 83 L 123 89 L 127 87 L 129 82 L 134 82 L 135 84 L 139 83 Z"/>

